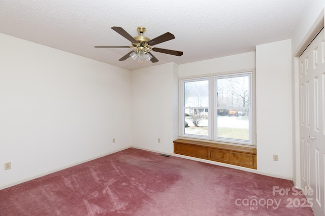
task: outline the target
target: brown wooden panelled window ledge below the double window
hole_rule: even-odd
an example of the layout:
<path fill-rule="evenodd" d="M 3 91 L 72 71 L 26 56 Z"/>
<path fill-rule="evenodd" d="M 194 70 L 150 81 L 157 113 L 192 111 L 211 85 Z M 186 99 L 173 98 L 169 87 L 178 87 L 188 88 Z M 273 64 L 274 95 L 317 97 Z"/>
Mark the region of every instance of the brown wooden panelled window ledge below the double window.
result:
<path fill-rule="evenodd" d="M 177 139 L 174 153 L 257 169 L 255 148 Z"/>

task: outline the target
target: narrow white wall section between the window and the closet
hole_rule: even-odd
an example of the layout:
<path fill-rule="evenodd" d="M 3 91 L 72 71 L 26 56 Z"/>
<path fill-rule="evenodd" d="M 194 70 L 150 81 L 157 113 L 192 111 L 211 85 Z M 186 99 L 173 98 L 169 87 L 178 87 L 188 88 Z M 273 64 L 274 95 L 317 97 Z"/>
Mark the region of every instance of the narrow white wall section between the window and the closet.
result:
<path fill-rule="evenodd" d="M 293 176 L 291 41 L 256 46 L 257 169 Z M 279 161 L 273 161 L 273 154 Z"/>

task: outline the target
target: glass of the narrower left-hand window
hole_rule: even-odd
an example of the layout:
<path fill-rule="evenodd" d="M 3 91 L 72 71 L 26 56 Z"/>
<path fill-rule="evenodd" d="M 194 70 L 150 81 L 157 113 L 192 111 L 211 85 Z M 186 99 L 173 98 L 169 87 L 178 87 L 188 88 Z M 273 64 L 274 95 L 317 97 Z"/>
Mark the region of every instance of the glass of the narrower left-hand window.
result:
<path fill-rule="evenodd" d="M 209 136 L 209 80 L 184 81 L 184 134 Z"/>

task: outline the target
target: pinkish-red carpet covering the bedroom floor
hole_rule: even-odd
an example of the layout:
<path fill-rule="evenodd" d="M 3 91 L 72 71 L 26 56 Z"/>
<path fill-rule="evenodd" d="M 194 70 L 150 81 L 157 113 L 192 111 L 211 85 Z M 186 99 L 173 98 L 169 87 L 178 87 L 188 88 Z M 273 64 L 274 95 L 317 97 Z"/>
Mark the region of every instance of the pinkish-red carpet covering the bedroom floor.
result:
<path fill-rule="evenodd" d="M 0 215 L 313 215 L 297 193 L 288 180 L 129 148 L 0 190 Z"/>

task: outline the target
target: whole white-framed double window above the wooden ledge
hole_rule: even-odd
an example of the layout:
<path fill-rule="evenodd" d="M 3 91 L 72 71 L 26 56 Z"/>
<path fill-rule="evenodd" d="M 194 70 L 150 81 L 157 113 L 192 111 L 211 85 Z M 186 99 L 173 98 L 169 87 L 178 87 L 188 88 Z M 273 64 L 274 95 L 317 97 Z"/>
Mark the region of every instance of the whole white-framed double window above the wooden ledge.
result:
<path fill-rule="evenodd" d="M 182 79 L 181 94 L 180 136 L 253 144 L 251 71 Z"/>

